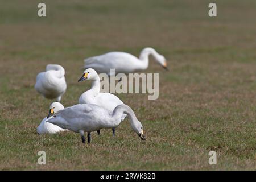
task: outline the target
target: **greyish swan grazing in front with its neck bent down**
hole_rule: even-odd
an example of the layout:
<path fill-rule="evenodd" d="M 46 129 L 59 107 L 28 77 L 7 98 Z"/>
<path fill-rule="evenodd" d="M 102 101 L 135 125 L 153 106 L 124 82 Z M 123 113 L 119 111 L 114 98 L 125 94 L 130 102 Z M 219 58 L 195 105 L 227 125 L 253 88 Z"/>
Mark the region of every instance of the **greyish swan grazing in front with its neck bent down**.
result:
<path fill-rule="evenodd" d="M 88 143 L 90 144 L 90 132 L 103 128 L 117 127 L 122 121 L 123 113 L 128 115 L 131 128 L 142 140 L 145 140 L 141 122 L 138 121 L 133 110 L 124 104 L 115 107 L 112 114 L 109 114 L 108 110 L 94 104 L 77 104 L 60 110 L 46 122 L 80 133 L 82 143 L 85 143 L 84 132 L 86 131 L 88 133 Z"/>

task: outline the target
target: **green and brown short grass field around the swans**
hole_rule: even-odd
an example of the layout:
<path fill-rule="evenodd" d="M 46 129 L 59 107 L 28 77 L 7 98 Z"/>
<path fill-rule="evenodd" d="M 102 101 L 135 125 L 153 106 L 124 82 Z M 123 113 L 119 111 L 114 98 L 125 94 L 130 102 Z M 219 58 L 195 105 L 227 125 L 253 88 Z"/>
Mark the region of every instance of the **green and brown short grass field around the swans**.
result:
<path fill-rule="evenodd" d="M 0 0 L 0 169 L 256 169 L 256 1 Z M 47 64 L 66 70 L 61 102 L 75 105 L 90 82 L 77 82 L 85 57 L 108 51 L 139 55 L 154 47 L 169 72 L 159 73 L 159 99 L 118 94 L 142 122 L 146 142 L 128 121 L 92 134 L 38 135 L 49 104 L 34 90 Z M 38 151 L 47 164 L 39 165 Z M 209 165 L 208 152 L 217 152 Z"/>

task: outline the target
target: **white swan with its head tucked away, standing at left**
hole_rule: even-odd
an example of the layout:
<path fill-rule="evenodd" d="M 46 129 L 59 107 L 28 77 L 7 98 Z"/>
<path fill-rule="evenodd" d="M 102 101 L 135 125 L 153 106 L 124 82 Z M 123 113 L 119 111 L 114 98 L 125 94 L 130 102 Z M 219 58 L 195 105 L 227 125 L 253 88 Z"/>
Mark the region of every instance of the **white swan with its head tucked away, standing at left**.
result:
<path fill-rule="evenodd" d="M 45 98 L 56 98 L 58 102 L 67 89 L 65 81 L 65 70 L 61 65 L 48 64 L 46 72 L 41 72 L 36 76 L 35 89 Z"/>

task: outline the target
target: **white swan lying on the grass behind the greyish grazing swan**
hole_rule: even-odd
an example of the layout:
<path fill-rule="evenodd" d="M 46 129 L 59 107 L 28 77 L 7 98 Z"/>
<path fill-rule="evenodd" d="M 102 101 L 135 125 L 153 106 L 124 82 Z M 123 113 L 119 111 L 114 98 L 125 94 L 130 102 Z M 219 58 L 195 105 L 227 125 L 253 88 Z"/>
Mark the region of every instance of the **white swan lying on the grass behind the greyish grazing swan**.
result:
<path fill-rule="evenodd" d="M 49 110 L 49 114 L 47 117 L 45 117 L 42 122 L 40 123 L 40 125 L 38 126 L 38 134 L 55 134 L 58 133 L 60 131 L 65 131 L 64 129 L 61 129 L 59 126 L 57 125 L 53 125 L 52 123 L 47 123 L 47 118 L 49 118 L 49 116 L 51 114 L 57 113 L 57 111 L 63 110 L 64 106 L 62 104 L 60 104 L 60 102 L 53 102 L 50 106 L 50 110 Z"/>

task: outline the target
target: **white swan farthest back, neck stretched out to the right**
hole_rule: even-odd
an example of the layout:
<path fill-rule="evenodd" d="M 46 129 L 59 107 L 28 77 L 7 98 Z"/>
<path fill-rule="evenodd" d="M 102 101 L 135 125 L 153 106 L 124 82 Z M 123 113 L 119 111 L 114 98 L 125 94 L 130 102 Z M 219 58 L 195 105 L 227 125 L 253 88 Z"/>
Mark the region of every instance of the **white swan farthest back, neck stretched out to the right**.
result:
<path fill-rule="evenodd" d="M 89 57 L 84 60 L 84 68 L 93 68 L 97 73 L 106 73 L 109 76 L 113 76 L 110 73 L 110 69 L 115 69 L 117 73 L 133 73 L 135 71 L 141 71 L 148 67 L 148 56 L 154 56 L 155 60 L 167 69 L 167 63 L 164 56 L 159 55 L 153 48 L 144 48 L 141 51 L 139 59 L 130 53 L 126 52 L 109 52 L 104 55 Z"/>

